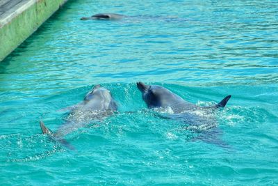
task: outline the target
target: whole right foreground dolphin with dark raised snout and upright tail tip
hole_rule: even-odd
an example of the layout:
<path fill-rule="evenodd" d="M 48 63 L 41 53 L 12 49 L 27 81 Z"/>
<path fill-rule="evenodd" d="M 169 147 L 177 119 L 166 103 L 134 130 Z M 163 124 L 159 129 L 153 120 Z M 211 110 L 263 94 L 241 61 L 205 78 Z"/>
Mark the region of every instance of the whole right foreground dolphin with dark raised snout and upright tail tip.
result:
<path fill-rule="evenodd" d="M 167 88 L 158 85 L 147 86 L 142 82 L 137 83 L 138 89 L 142 93 L 142 99 L 146 102 L 149 109 L 170 109 L 167 118 L 174 118 L 186 123 L 188 130 L 202 131 L 208 133 L 219 133 L 218 131 L 208 132 L 209 129 L 216 126 L 215 109 L 225 107 L 231 95 L 227 95 L 221 102 L 211 107 L 200 107 L 183 100 L 179 95 L 172 93 Z M 213 144 L 220 144 L 220 141 L 204 137 L 203 141 Z"/>

